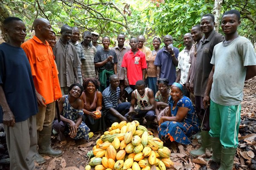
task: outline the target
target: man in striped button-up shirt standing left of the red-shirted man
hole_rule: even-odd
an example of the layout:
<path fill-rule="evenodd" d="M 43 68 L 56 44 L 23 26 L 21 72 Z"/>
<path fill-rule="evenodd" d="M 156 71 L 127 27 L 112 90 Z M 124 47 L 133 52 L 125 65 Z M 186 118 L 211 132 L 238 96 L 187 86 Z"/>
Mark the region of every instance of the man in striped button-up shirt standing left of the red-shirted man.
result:
<path fill-rule="evenodd" d="M 117 57 L 117 76 L 119 78 L 120 84 L 120 100 L 122 102 L 125 102 L 126 96 L 125 96 L 125 74 L 124 74 L 124 68 L 121 67 L 122 65 L 122 59 L 126 52 L 130 51 L 130 47 L 126 46 L 125 43 L 125 35 L 119 34 L 117 36 L 117 42 L 118 45 L 112 48 L 113 51 L 116 52 Z"/>

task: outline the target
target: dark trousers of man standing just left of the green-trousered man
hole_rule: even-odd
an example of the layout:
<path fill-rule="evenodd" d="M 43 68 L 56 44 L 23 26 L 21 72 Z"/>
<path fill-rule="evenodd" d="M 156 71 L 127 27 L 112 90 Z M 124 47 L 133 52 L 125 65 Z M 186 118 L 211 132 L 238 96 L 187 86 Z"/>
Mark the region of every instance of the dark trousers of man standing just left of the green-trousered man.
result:
<path fill-rule="evenodd" d="M 209 131 L 210 130 L 210 123 L 209 123 L 210 111 L 209 111 L 209 107 L 207 108 L 207 111 L 205 111 L 203 99 L 204 97 L 195 96 L 195 113 L 197 114 L 201 124 L 203 124 L 201 130 Z M 204 113 L 205 113 L 205 116 L 204 116 Z"/>

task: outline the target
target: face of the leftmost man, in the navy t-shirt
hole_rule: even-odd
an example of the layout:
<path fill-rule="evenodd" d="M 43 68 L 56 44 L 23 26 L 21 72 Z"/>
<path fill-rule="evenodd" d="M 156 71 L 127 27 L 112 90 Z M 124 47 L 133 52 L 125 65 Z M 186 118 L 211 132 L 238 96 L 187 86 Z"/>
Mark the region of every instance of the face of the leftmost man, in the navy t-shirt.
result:
<path fill-rule="evenodd" d="M 26 26 L 23 21 L 14 20 L 8 24 L 8 28 L 5 28 L 6 33 L 10 41 L 20 44 L 25 41 Z"/>

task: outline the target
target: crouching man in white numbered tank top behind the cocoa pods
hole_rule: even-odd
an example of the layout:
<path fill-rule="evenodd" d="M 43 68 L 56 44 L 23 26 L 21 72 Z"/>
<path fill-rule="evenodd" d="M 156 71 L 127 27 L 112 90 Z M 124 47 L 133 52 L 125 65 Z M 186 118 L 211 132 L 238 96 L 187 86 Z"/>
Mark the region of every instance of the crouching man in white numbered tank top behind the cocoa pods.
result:
<path fill-rule="evenodd" d="M 150 125 L 156 116 L 154 93 L 150 88 L 146 88 L 143 80 L 137 81 L 135 88 L 131 94 L 131 107 L 125 117 L 130 121 L 138 120 L 141 123 L 144 117 L 147 125 Z M 137 103 L 137 106 L 134 109 L 135 103 Z"/>

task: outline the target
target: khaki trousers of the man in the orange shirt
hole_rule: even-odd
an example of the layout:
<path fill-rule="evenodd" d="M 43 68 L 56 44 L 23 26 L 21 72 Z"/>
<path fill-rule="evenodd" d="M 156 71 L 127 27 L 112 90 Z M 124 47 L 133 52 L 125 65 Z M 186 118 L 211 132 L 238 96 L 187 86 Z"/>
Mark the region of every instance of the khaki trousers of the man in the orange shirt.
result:
<path fill-rule="evenodd" d="M 52 127 L 52 121 L 55 117 L 55 101 L 46 105 L 46 107 L 38 106 L 36 115 L 36 128 L 38 131 L 43 130 L 43 127 Z"/>

